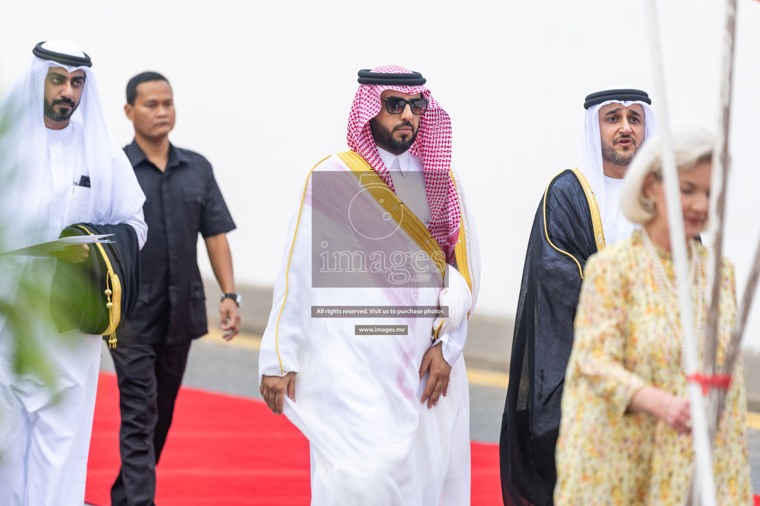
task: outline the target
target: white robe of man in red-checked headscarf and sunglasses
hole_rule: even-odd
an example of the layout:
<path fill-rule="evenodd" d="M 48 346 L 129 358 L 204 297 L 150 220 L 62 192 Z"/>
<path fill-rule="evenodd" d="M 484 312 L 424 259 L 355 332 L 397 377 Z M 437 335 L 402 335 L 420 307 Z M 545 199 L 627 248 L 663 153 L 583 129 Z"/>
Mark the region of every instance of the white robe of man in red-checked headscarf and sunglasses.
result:
<path fill-rule="evenodd" d="M 420 221 L 429 222 L 423 171 L 408 170 L 416 161 L 404 156 L 394 167 L 394 156 L 380 152 L 386 158 L 390 155 L 384 162 L 393 167 L 397 196 L 419 213 Z M 337 156 L 315 170 L 348 171 L 347 178 L 354 178 Z M 451 359 L 448 395 L 432 409 L 420 403 L 426 377 L 420 380 L 419 369 L 431 346 L 434 318 L 312 318 L 311 313 L 311 306 L 319 305 L 437 306 L 442 288 L 314 288 L 311 234 L 318 204 L 311 181 L 290 224 L 259 354 L 260 375 L 297 372 L 296 401 L 286 398 L 283 412 L 309 438 L 311 504 L 469 504 L 469 394 L 459 353 L 458 360 Z M 347 186 L 334 185 L 336 192 Z M 346 192 L 336 193 L 337 198 L 330 200 L 334 206 L 325 207 L 336 219 L 347 212 L 352 196 L 361 193 L 350 188 Z M 336 209 L 340 202 L 347 209 Z M 378 203 L 371 204 L 382 214 Z M 467 206 L 462 208 L 467 212 Z M 469 240 L 477 248 L 472 235 Z M 468 262 L 477 262 L 477 254 L 471 253 Z M 373 324 L 408 325 L 408 335 L 356 335 L 355 325 Z M 466 333 L 465 321 L 450 338 L 464 343 Z"/>

